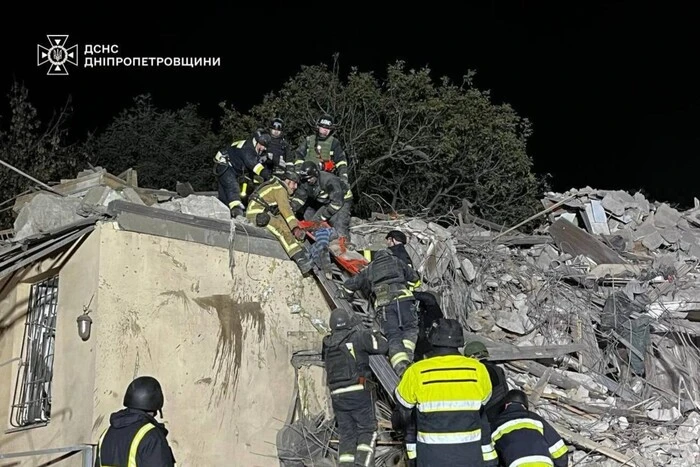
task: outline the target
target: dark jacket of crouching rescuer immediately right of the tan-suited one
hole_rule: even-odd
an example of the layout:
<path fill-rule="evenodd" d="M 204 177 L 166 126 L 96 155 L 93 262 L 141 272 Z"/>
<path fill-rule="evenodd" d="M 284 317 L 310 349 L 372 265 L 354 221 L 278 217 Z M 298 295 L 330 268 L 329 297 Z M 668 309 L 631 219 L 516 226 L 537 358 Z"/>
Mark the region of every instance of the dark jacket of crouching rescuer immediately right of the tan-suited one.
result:
<path fill-rule="evenodd" d="M 317 220 L 325 221 L 338 212 L 345 203 L 352 201 L 352 191 L 335 175 L 320 172 L 315 184 L 302 183 L 297 187 L 292 198 L 292 209 L 299 212 L 312 201 L 322 205 L 316 212 L 316 217 L 318 217 Z"/>

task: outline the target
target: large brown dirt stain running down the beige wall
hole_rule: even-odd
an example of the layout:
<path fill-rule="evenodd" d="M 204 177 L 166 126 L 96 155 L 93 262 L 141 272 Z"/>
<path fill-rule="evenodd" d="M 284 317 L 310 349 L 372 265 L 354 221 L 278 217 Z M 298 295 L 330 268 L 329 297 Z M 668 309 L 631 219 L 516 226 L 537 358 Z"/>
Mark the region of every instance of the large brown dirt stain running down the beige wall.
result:
<path fill-rule="evenodd" d="M 248 331 L 257 331 L 258 342 L 265 335 L 265 313 L 260 302 L 237 302 L 230 295 L 211 295 L 192 299 L 204 309 L 213 309 L 219 318 L 219 340 L 214 356 L 214 385 L 211 403 L 233 396 L 243 361 L 243 340 Z"/>

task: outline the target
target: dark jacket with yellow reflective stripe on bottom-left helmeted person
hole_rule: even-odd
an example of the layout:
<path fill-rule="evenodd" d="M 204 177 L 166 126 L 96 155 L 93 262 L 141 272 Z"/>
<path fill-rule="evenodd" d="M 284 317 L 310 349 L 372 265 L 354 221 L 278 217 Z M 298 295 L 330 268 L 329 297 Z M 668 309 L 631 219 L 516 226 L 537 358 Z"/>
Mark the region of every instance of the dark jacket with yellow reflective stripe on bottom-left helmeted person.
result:
<path fill-rule="evenodd" d="M 109 428 L 98 444 L 95 467 L 172 467 L 173 452 L 168 445 L 168 430 L 142 410 L 122 409 L 109 418 Z"/>

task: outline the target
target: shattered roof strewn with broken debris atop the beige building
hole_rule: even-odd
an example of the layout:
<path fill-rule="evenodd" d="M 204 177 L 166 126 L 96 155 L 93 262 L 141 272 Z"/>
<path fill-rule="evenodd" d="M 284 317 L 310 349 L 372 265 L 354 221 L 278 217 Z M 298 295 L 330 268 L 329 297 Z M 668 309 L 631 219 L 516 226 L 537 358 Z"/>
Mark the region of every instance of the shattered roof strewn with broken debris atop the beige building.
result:
<path fill-rule="evenodd" d="M 135 182 L 132 171 L 130 177 Z M 18 197 L 13 235 L 0 241 L 0 278 L 71 244 L 100 221 L 123 230 L 288 259 L 267 230 L 230 214 L 211 193 L 140 188 L 95 168 L 54 185 L 55 193 L 36 191 Z"/>

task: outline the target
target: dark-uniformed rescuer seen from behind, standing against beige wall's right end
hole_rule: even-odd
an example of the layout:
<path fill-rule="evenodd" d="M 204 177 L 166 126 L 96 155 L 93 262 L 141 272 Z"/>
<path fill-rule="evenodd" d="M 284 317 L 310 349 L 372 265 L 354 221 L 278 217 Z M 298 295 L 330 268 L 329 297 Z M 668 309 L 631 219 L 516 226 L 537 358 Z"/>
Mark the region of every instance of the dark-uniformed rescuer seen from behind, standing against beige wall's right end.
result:
<path fill-rule="evenodd" d="M 381 335 L 358 327 L 358 317 L 342 308 L 331 312 L 328 324 L 331 333 L 323 338 L 321 355 L 338 424 L 338 462 L 374 465 L 377 417 L 366 384 L 371 375 L 369 355 L 386 354 L 388 344 Z"/>

